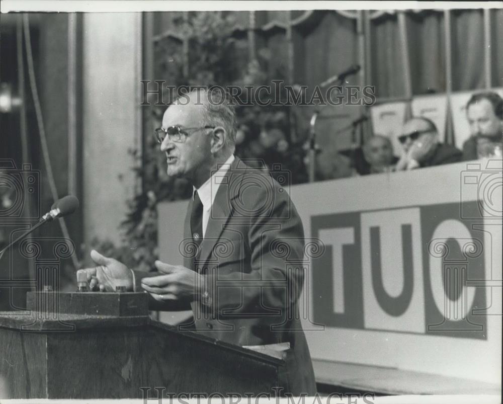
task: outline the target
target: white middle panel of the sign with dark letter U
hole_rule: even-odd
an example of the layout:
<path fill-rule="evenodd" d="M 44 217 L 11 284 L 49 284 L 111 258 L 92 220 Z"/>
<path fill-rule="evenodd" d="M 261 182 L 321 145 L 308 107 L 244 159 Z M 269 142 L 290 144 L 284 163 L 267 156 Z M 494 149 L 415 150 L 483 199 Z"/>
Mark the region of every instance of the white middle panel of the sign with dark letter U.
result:
<path fill-rule="evenodd" d="M 424 334 L 418 208 L 362 213 L 365 328 Z"/>

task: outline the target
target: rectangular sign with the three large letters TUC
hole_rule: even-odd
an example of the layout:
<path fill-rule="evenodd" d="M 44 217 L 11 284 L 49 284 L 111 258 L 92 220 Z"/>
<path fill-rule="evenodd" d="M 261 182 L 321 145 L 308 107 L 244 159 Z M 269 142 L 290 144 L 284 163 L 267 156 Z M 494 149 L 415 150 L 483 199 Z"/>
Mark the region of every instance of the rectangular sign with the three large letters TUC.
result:
<path fill-rule="evenodd" d="M 484 229 L 472 223 L 459 202 L 312 216 L 325 245 L 312 263 L 314 321 L 486 339 L 486 290 L 469 287 L 484 281 Z"/>

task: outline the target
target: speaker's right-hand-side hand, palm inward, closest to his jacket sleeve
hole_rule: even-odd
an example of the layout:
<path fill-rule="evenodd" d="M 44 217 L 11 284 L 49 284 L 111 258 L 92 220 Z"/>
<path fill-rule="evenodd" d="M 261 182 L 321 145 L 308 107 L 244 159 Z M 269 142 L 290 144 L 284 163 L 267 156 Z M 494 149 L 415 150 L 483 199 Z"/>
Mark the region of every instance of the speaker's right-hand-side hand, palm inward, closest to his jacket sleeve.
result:
<path fill-rule="evenodd" d="M 193 301 L 202 290 L 203 277 L 181 265 L 170 265 L 155 261 L 155 267 L 164 275 L 141 280 L 141 287 L 156 300 Z"/>

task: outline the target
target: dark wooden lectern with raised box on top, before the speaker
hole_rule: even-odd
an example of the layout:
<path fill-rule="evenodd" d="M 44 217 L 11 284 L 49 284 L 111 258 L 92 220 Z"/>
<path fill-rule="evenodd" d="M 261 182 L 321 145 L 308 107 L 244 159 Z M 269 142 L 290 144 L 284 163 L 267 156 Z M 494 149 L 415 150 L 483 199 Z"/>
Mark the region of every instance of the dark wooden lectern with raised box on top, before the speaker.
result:
<path fill-rule="evenodd" d="M 0 398 L 274 396 L 282 385 L 283 360 L 154 321 L 145 293 L 28 292 L 27 307 L 0 312 Z"/>

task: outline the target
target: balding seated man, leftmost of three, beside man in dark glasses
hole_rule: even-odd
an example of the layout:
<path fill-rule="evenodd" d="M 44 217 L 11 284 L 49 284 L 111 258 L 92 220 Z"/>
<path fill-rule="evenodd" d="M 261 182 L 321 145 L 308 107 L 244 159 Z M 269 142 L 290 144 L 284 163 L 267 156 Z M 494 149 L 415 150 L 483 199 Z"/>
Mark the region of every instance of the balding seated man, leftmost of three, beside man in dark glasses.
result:
<path fill-rule="evenodd" d="M 398 157 L 393 155 L 393 145 L 386 136 L 374 135 L 362 147 L 364 161 L 361 175 L 393 171 Z"/>

